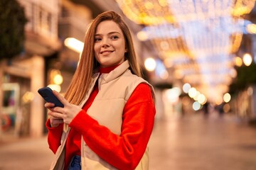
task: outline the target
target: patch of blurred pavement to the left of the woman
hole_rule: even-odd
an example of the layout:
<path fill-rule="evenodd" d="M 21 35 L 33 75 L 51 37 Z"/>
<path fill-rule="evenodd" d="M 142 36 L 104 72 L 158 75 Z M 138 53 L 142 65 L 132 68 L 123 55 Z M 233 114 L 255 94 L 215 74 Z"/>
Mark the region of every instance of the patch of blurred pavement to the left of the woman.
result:
<path fill-rule="evenodd" d="M 0 170 L 45 170 L 49 169 L 52 158 L 46 137 L 0 144 Z"/>

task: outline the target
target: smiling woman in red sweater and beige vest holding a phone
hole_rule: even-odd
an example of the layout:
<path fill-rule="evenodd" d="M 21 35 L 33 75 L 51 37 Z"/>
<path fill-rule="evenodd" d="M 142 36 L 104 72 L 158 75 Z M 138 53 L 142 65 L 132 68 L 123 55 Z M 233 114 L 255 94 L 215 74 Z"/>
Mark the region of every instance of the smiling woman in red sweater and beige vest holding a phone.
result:
<path fill-rule="evenodd" d="M 101 13 L 65 96 L 53 91 L 64 108 L 45 104 L 51 169 L 148 169 L 154 93 L 140 76 L 126 23 L 113 11 Z"/>

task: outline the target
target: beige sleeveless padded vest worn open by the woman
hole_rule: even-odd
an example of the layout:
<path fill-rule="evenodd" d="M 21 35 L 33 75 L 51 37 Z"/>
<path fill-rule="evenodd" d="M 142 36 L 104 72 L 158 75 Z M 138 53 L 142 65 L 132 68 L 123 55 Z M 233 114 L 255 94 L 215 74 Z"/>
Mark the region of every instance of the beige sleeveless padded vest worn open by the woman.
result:
<path fill-rule="evenodd" d="M 98 121 L 100 125 L 105 125 L 112 132 L 120 135 L 122 128 L 122 113 L 124 106 L 131 96 L 134 89 L 140 83 L 146 83 L 144 79 L 137 77 L 130 72 L 129 62 L 125 61 L 119 67 L 114 69 L 110 74 L 102 74 L 99 77 L 99 93 L 97 94 L 92 106 L 87 111 L 87 114 Z M 89 93 L 85 96 L 85 100 L 82 101 L 80 106 L 82 107 L 87 98 L 92 92 L 93 86 L 98 78 L 98 74 L 95 74 L 93 78 L 92 86 L 90 87 Z M 149 86 L 151 86 L 149 84 Z M 154 95 L 154 90 L 151 87 L 152 95 Z M 104 112 L 104 115 L 102 114 Z M 65 141 L 68 137 L 68 132 L 63 130 L 63 135 L 61 137 L 61 145 L 55 154 L 55 159 L 52 162 L 50 169 L 60 170 L 64 166 L 64 155 L 65 155 Z M 104 169 L 115 169 L 113 166 L 105 162 L 103 159 L 97 156 L 90 147 L 88 147 L 85 141 L 82 139 L 81 144 L 81 164 L 82 169 L 85 170 L 104 170 Z M 148 149 L 144 153 L 141 161 L 139 162 L 137 168 L 139 169 L 149 169 L 149 154 Z"/>

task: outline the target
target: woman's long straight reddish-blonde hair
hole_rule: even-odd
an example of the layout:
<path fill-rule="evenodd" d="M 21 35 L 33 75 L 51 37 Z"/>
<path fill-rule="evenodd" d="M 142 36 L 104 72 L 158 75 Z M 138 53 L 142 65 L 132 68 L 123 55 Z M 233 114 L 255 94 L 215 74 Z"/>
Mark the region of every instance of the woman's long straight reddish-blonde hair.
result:
<path fill-rule="evenodd" d="M 122 16 L 119 16 L 119 14 L 115 13 L 114 11 L 106 11 L 101 13 L 92 21 L 92 23 L 90 23 L 90 26 L 87 29 L 80 64 L 78 65 L 70 86 L 68 87 L 68 91 L 65 94 L 65 98 L 70 103 L 75 105 L 78 105 L 82 102 L 85 94 L 90 88 L 90 84 L 92 83 L 93 71 L 100 67 L 100 64 L 95 60 L 94 42 L 96 28 L 102 21 L 114 21 L 117 23 L 119 28 L 122 30 L 122 33 L 124 34 L 125 45 L 128 50 L 124 56 L 125 60 L 129 61 L 132 73 L 142 77 L 141 69 L 139 68 L 137 57 L 134 51 L 132 34 L 127 24 L 122 19 Z"/>

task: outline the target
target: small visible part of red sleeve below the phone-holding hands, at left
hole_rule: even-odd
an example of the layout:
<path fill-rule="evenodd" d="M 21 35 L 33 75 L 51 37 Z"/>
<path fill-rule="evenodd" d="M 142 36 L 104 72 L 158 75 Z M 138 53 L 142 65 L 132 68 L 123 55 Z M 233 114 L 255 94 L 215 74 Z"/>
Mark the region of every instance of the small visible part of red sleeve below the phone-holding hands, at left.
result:
<path fill-rule="evenodd" d="M 48 145 L 55 154 L 60 146 L 60 138 L 63 132 L 63 123 L 56 128 L 50 127 L 50 120 L 46 121 L 46 128 L 48 129 Z"/>

